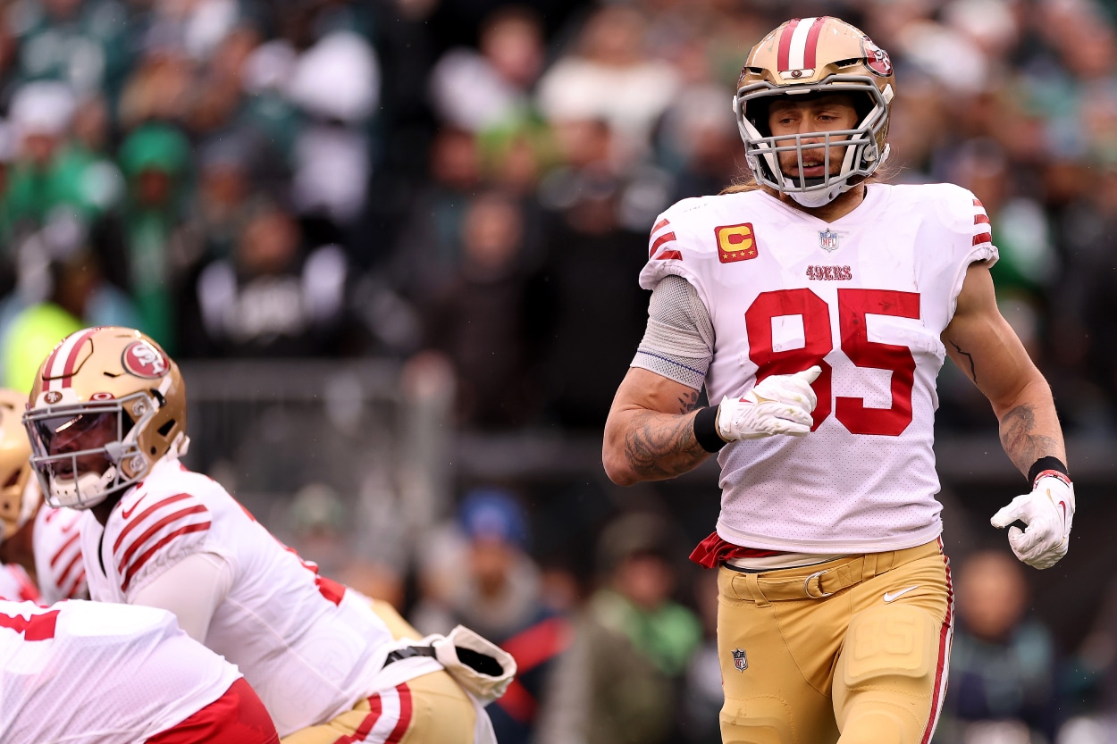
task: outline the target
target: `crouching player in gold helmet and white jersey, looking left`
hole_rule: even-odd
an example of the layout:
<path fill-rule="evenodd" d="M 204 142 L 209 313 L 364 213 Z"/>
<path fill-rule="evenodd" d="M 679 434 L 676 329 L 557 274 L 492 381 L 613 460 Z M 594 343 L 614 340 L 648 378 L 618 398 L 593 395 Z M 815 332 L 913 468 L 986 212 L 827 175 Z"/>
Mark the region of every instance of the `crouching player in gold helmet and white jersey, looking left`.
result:
<path fill-rule="evenodd" d="M 238 666 L 285 744 L 491 742 L 479 698 L 456 681 L 470 673 L 443 652 L 452 643 L 399 641 L 419 636 L 386 605 L 374 611 L 318 575 L 225 488 L 180 464 L 185 388 L 153 340 L 120 327 L 67 336 L 44 361 L 23 421 L 47 503 L 88 511 L 80 532 L 93 599 L 174 612 Z M 498 695 L 508 681 L 500 669 L 471 691 Z"/>

